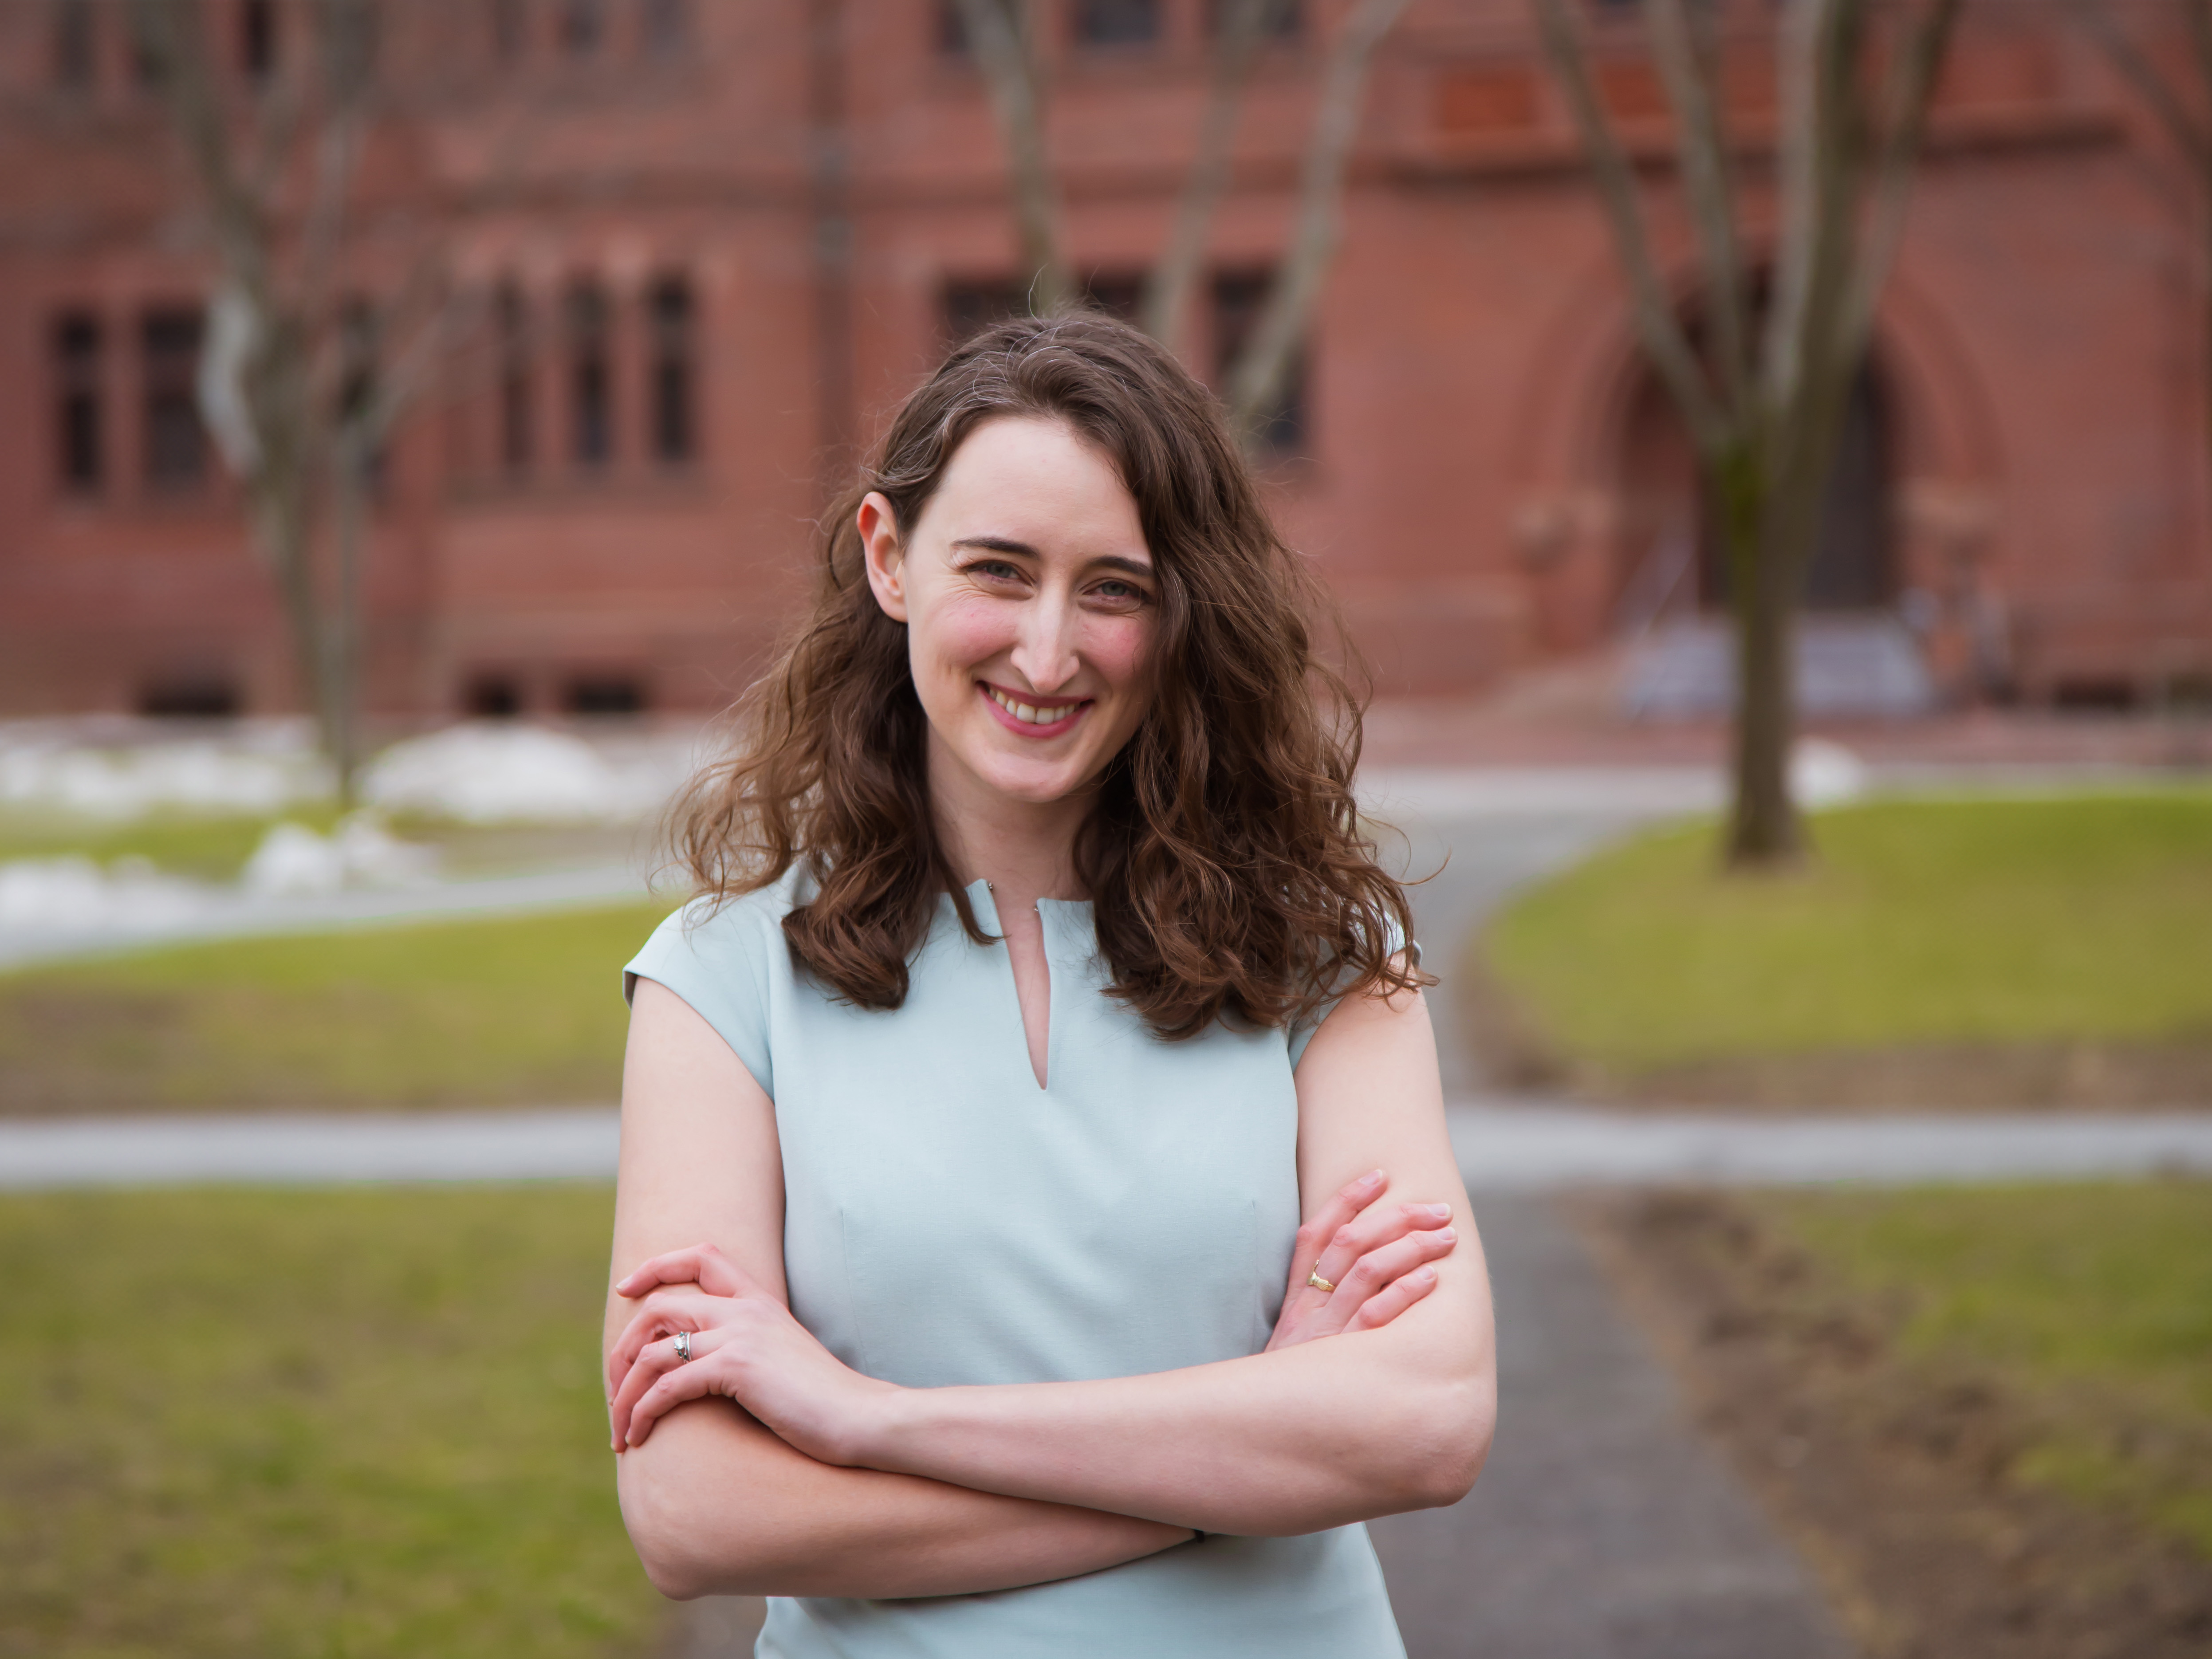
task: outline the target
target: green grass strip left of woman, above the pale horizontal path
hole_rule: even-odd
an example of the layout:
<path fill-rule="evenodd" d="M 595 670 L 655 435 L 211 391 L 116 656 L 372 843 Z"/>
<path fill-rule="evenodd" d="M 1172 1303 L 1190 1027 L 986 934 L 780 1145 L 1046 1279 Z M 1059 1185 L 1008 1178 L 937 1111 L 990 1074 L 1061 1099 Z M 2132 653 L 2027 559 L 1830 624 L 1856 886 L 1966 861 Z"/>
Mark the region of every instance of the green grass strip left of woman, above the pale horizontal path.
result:
<path fill-rule="evenodd" d="M 0 1110 L 611 1102 L 670 905 L 226 940 L 0 975 Z"/>

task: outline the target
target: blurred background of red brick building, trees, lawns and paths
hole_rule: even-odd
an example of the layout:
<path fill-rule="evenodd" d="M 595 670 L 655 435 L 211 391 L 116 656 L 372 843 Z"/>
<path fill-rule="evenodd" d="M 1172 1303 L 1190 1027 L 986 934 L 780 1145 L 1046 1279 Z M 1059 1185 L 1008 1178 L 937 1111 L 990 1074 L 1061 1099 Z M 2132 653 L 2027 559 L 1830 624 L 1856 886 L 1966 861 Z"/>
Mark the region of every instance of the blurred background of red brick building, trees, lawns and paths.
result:
<path fill-rule="evenodd" d="M 1409 1652 L 2212 1652 L 2208 248 L 2212 0 L 0 0 L 0 1655 L 743 1650 L 617 971 L 1068 305 L 1371 670 L 1504 1354 Z"/>

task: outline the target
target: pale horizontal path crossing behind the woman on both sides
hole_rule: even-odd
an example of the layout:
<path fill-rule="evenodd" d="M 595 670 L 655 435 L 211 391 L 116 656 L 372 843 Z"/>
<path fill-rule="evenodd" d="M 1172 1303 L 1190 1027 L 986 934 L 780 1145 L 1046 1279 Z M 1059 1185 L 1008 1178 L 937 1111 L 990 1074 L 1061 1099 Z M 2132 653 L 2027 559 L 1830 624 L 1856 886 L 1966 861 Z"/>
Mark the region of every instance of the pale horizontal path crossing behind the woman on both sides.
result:
<path fill-rule="evenodd" d="M 606 1181 L 617 1144 L 606 1106 L 0 1119 L 0 1190 Z M 1482 1194 L 2212 1175 L 2212 1113 L 1776 1121 L 1453 1106 L 1451 1144 Z"/>

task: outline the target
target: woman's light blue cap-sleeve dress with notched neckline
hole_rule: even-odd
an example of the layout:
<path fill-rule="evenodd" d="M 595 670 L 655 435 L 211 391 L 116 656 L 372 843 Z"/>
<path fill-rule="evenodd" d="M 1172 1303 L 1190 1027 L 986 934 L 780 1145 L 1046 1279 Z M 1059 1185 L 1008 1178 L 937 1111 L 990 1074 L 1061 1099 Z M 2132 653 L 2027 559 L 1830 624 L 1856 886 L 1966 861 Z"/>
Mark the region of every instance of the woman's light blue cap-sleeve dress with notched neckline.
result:
<path fill-rule="evenodd" d="M 799 973 L 796 872 L 677 911 L 628 973 L 712 1024 L 774 1099 L 792 1312 L 905 1387 L 1055 1383 L 1267 1345 L 1298 1228 L 1292 1066 L 1312 1029 L 1159 1042 L 1104 995 L 1091 905 L 1044 900 L 1048 1088 L 1004 945 L 951 896 L 905 1006 Z M 984 883 L 969 902 L 987 933 Z M 630 980 L 624 982 L 626 987 Z M 1208 1537 L 1057 1584 L 907 1601 L 774 1597 L 763 1659 L 1402 1659 L 1365 1526 Z"/>

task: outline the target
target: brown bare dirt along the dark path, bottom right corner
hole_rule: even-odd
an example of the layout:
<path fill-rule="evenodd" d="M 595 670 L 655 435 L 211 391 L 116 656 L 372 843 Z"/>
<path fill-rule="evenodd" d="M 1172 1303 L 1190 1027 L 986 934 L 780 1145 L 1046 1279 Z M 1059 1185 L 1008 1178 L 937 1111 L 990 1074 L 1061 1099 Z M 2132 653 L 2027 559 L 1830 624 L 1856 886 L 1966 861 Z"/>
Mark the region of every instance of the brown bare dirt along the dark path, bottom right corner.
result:
<path fill-rule="evenodd" d="M 1898 1352 L 1725 1197 L 1573 1206 L 1630 1312 L 1871 1659 L 2203 1659 L 2212 1562 L 2013 1478 L 2033 1409 Z"/>

